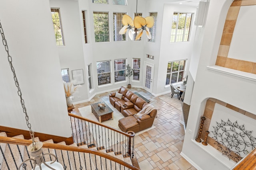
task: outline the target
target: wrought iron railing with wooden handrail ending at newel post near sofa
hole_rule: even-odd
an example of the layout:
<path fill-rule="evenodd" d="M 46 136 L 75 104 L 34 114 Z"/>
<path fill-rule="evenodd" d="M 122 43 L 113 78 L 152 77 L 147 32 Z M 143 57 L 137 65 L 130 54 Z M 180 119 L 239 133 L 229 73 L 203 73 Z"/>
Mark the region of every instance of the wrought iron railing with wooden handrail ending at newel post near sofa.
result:
<path fill-rule="evenodd" d="M 102 123 L 86 119 L 84 117 L 68 113 L 72 128 L 72 136 L 75 143 L 96 147 L 97 150 L 105 149 L 106 152 L 123 154 L 124 157 L 134 157 L 133 131 L 124 133 L 118 129 Z"/>

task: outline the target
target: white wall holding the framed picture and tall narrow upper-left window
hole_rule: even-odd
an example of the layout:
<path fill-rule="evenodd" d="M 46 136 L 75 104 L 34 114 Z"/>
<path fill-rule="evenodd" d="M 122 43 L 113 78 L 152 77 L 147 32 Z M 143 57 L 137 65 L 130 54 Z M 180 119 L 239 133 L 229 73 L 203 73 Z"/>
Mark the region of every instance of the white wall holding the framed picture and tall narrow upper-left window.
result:
<path fill-rule="evenodd" d="M 50 0 L 51 8 L 60 8 L 60 18 L 64 37 L 64 46 L 58 46 L 58 54 L 61 68 L 69 68 L 70 80 L 73 80 L 72 70 L 83 69 L 84 84 L 74 94 L 73 102 L 88 99 L 86 82 L 87 68 L 84 63 L 83 33 L 81 10 L 78 1 L 74 0 Z M 79 97 L 78 97 L 79 96 Z"/>

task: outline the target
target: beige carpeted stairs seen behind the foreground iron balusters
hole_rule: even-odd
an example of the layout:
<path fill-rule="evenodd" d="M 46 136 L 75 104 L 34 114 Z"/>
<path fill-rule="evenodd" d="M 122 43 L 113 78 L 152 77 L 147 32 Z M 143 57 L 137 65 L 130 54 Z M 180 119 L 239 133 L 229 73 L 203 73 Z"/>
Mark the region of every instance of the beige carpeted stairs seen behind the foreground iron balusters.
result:
<path fill-rule="evenodd" d="M 0 136 L 7 137 L 5 132 L 1 132 Z M 13 138 L 24 139 L 23 135 L 18 135 Z M 35 141 L 39 141 L 36 137 Z M 44 141 L 44 143 L 54 143 L 53 140 Z M 58 143 L 59 145 L 66 145 L 65 142 Z M 76 143 L 69 145 L 71 147 L 78 147 Z M 80 145 L 79 148 L 88 149 L 87 145 Z M 90 147 L 90 149 L 97 150 L 96 147 Z M 115 154 L 112 152 L 106 152 L 106 149 L 98 150 L 98 152 L 104 152 L 111 156 L 114 156 L 120 160 L 127 162 L 132 165 L 130 157 L 124 158 L 123 154 Z M 74 152 L 59 149 L 48 149 L 43 148 L 43 154 L 52 153 L 56 155 L 57 162 L 62 164 L 66 170 L 125 170 L 128 169 L 122 164 L 118 164 L 115 161 L 109 160 L 104 157 L 100 157 L 95 154 L 90 154 L 87 152 Z M 27 151 L 27 146 L 24 145 L 14 145 L 0 143 L 0 170 L 16 170 L 18 166 L 26 159 L 31 158 L 30 153 Z M 15 161 L 14 161 L 15 160 Z M 45 162 L 54 160 L 53 156 L 44 156 Z M 7 164 L 6 164 L 7 162 Z M 25 162 L 27 170 L 31 170 L 33 163 L 30 161 Z M 24 169 L 24 168 L 23 168 Z"/>

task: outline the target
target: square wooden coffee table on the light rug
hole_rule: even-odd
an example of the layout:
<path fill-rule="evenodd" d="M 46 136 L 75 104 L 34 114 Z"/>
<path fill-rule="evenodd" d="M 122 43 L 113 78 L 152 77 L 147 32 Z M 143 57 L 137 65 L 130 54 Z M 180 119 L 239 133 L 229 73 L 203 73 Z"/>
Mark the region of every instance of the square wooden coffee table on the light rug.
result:
<path fill-rule="evenodd" d="M 105 104 L 105 109 L 100 109 L 100 107 L 98 107 L 98 104 L 100 103 Z M 94 104 L 91 104 L 91 106 L 92 106 L 92 113 L 96 116 L 96 118 L 100 123 L 108 119 L 114 119 L 113 110 L 105 102 L 94 103 Z"/>

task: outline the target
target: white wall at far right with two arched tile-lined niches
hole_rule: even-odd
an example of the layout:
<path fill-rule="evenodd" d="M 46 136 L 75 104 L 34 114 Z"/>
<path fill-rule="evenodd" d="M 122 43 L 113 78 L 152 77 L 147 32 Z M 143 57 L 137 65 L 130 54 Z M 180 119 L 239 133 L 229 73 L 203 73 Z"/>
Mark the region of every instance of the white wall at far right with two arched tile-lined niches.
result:
<path fill-rule="evenodd" d="M 225 160 L 226 158 L 224 156 L 221 157 L 220 152 L 213 149 L 211 154 L 209 154 L 204 147 L 199 147 L 199 145 L 192 142 L 198 135 L 200 117 L 204 113 L 206 100 L 208 98 L 216 98 L 232 106 L 256 114 L 254 102 L 256 94 L 255 74 L 248 74 L 254 77 L 254 80 L 248 80 L 207 68 L 207 66 L 215 65 L 226 14 L 231 3 L 232 0 L 208 1 L 209 9 L 206 23 L 203 25 L 204 37 L 202 37 L 202 48 L 200 51 L 194 52 L 194 54 L 200 54 L 200 59 L 182 154 L 190 160 L 197 169 L 202 170 L 230 169 L 226 166 L 230 164 L 229 160 Z M 198 49 L 199 48 L 196 50 Z M 229 69 L 229 72 L 234 73 L 237 72 L 237 70 Z M 243 73 L 238 71 L 238 74 L 242 75 Z M 251 90 L 242 92 L 243 87 Z M 215 154 L 220 154 L 220 160 L 214 158 Z"/>

